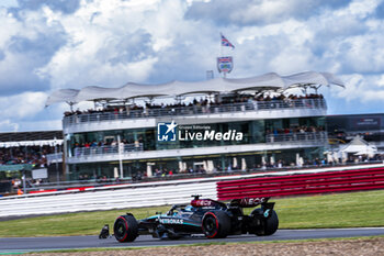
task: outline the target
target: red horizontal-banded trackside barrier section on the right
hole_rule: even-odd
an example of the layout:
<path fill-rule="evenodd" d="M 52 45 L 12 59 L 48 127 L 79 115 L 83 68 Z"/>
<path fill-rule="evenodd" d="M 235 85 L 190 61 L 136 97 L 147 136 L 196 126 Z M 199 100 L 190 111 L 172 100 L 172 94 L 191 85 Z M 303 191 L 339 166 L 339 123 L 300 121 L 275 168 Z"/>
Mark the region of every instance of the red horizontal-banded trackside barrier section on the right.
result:
<path fill-rule="evenodd" d="M 384 189 L 384 167 L 217 182 L 217 198 L 285 197 Z"/>

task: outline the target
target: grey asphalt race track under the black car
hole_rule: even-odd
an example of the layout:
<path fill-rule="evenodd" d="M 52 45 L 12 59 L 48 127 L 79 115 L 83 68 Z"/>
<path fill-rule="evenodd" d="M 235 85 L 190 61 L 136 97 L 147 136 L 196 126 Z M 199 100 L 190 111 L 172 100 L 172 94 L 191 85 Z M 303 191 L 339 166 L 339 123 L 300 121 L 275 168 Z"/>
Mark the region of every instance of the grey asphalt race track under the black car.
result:
<path fill-rule="evenodd" d="M 0 254 L 68 248 L 167 246 L 211 242 L 234 243 L 276 240 L 353 237 L 371 235 L 384 235 L 384 227 L 278 230 L 278 232 L 271 236 L 238 235 L 228 236 L 224 240 L 207 240 L 204 236 L 197 236 L 171 241 L 157 240 L 153 238 L 149 235 L 143 235 L 137 237 L 136 241 L 133 243 L 118 243 L 114 237 L 99 240 L 98 236 L 12 237 L 0 238 Z"/>

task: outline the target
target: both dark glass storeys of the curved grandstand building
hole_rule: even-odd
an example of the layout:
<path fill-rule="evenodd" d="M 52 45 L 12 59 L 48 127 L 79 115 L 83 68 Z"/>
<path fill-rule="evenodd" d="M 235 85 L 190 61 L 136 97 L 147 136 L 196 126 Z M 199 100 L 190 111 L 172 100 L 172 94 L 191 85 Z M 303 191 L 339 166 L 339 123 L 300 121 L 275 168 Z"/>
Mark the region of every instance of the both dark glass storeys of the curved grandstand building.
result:
<path fill-rule="evenodd" d="M 196 124 L 199 125 L 199 124 Z M 325 131 L 324 116 L 309 118 L 287 118 L 287 119 L 270 119 L 270 120 L 250 120 L 237 122 L 217 122 L 208 125 L 211 131 L 227 132 L 229 130 L 241 132 L 242 140 L 240 141 L 176 141 L 176 142 L 159 142 L 157 140 L 157 127 L 146 129 L 127 129 L 127 130 L 109 130 L 109 131 L 92 131 L 75 134 L 66 134 L 66 154 L 67 157 L 78 157 L 78 149 L 89 147 L 88 154 L 99 152 L 92 149 L 93 147 L 111 147 L 117 142 L 117 137 L 127 145 L 139 144 L 139 151 L 162 151 L 162 149 L 178 149 L 178 148 L 195 148 L 195 147 L 212 147 L 225 145 L 244 145 L 244 144 L 260 144 L 271 143 L 270 136 L 282 136 L 285 138 L 289 134 L 315 133 Z M 180 130 L 181 131 L 181 130 Z M 194 129 L 194 132 L 204 132 L 204 130 Z M 182 131 L 181 131 L 182 132 Z M 291 136 L 289 137 L 292 141 Z M 267 140 L 268 138 L 268 140 Z M 323 158 L 324 145 L 326 137 L 321 137 L 321 146 L 300 147 L 294 149 L 281 151 L 257 151 L 244 153 L 226 153 L 226 154 L 211 154 L 211 155 L 195 155 L 195 156 L 174 156 L 170 155 L 166 158 L 154 159 L 136 159 L 123 160 L 123 176 L 135 177 L 137 175 L 146 175 L 148 168 L 155 176 L 156 172 L 189 172 L 205 169 L 206 164 L 211 163 L 211 171 L 231 171 L 239 169 L 256 169 L 266 165 L 278 166 L 281 163 L 283 166 L 296 165 L 297 157 L 303 157 L 305 162 L 313 162 Z M 272 140 L 273 141 L 273 140 Z M 276 142 L 275 140 L 274 142 Z M 279 143 L 291 143 L 289 140 L 280 140 Z M 136 147 L 135 147 L 136 148 Z M 137 147 L 138 148 L 138 147 Z M 136 151 L 136 149 L 135 149 Z M 82 152 L 83 153 L 83 152 Z M 117 149 L 112 152 L 117 154 Z M 89 156 L 89 155 L 87 155 Z M 82 155 L 80 156 L 82 157 Z M 81 159 L 81 158 L 79 158 Z M 67 179 L 97 179 L 97 178 L 114 178 L 117 171 L 120 172 L 120 162 L 105 160 L 99 163 L 81 163 L 67 165 Z M 312 163 L 308 163 L 312 164 Z M 180 166 L 183 166 L 180 168 Z"/>

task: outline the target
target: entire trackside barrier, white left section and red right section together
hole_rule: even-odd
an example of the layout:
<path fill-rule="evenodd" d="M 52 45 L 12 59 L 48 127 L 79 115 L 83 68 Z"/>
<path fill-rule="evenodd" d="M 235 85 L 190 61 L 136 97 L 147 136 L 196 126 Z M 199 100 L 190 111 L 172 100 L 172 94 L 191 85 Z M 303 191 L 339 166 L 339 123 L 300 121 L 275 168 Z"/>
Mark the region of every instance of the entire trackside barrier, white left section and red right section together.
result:
<path fill-rule="evenodd" d="M 0 198 L 0 219 L 188 203 L 191 194 L 229 200 L 384 189 L 384 164 L 83 187 Z"/>

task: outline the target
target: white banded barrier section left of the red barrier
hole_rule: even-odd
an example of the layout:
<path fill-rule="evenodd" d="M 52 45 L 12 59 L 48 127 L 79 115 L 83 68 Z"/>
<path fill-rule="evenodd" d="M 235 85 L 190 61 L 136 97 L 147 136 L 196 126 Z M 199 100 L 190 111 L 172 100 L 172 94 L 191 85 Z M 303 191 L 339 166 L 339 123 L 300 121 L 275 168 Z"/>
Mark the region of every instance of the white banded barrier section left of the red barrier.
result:
<path fill-rule="evenodd" d="M 188 203 L 191 194 L 203 193 L 216 199 L 216 182 L 173 183 L 160 187 L 129 187 L 125 189 L 94 192 L 60 192 L 52 197 L 31 197 L 0 200 L 0 218 L 32 214 L 52 214 L 78 211 L 95 211 L 156 207 Z"/>

